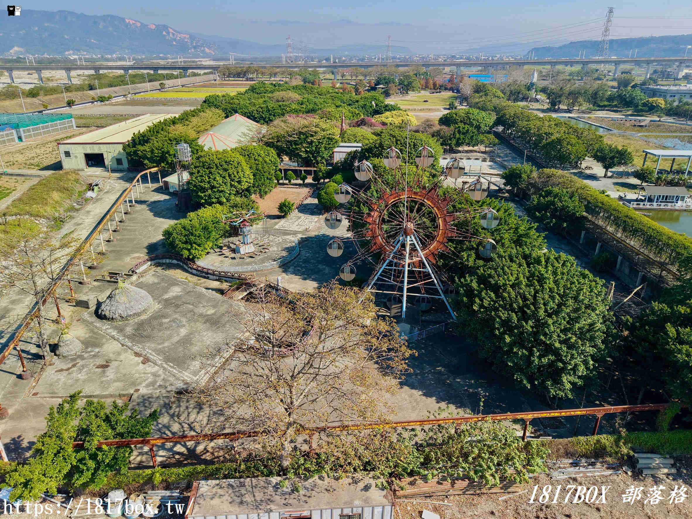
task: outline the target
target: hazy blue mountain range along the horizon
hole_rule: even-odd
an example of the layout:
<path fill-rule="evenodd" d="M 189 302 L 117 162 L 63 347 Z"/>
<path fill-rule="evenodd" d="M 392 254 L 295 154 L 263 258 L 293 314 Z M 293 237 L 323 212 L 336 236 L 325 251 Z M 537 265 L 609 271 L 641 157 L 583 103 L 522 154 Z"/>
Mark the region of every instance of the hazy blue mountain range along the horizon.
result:
<path fill-rule="evenodd" d="M 453 31 L 465 37 L 476 37 L 477 24 L 459 24 Z M 392 38 L 392 55 L 421 53 L 475 54 L 486 51 L 483 46 L 468 44 L 465 50 L 454 37 L 441 37 L 450 33 L 448 26 L 399 24 L 394 22 L 360 22 L 348 19 L 336 21 L 302 22 L 292 20 L 243 21 L 229 26 L 234 35 L 254 37 L 262 35 L 269 42 L 206 35 L 178 30 L 165 24 L 150 24 L 116 15 L 84 15 L 68 10 L 46 11 L 22 9 L 21 17 L 0 17 L 0 56 L 49 55 L 71 57 L 75 55 L 144 55 L 146 57 L 210 57 L 227 59 L 230 53 L 247 57 L 272 57 L 286 53 L 284 35 L 292 34 L 293 53 L 306 53 L 318 60 L 347 55 L 384 55 L 386 39 Z M 486 27 L 488 34 L 507 34 L 509 29 Z M 295 37 L 295 35 L 299 35 Z M 302 42 L 300 39 L 309 40 Z M 410 48 L 408 41 L 415 44 Z M 470 39 L 466 40 L 471 41 Z M 335 42 L 348 42 L 336 44 Z M 361 43 L 368 42 L 368 43 Z M 415 43 L 414 43 L 415 42 Z M 657 36 L 611 39 L 609 54 L 627 57 L 635 49 L 637 57 L 684 55 L 686 46 L 692 45 L 692 35 Z M 486 55 L 497 52 L 490 44 Z M 506 44 L 523 53 L 529 45 Z M 473 47 L 473 48 L 471 48 Z M 543 57 L 593 57 L 599 48 L 598 40 L 570 42 L 561 46 L 534 46 L 531 52 Z M 454 49 L 454 50 L 453 50 Z M 692 55 L 692 52 L 690 53 Z"/>

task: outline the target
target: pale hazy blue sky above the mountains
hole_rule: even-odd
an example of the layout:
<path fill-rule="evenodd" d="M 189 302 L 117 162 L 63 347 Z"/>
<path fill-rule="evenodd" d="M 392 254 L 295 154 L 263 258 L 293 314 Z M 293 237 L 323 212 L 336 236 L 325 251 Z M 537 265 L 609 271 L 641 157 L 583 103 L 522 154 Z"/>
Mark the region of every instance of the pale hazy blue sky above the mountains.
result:
<path fill-rule="evenodd" d="M 611 5 L 615 8 L 613 37 L 692 33 L 692 9 L 689 7 L 689 0 L 632 0 Z M 506 39 L 512 37 L 520 42 L 544 40 L 557 44 L 574 39 L 597 39 L 602 19 L 605 17 L 604 4 L 594 0 L 552 0 L 541 3 L 516 0 L 476 0 L 464 3 L 411 0 L 251 0 L 242 3 L 120 0 L 101 3 L 71 0 L 69 3 L 56 3 L 34 0 L 30 6 L 24 7 L 65 9 L 84 12 L 87 15 L 118 15 L 147 23 L 167 24 L 176 30 L 249 39 L 266 44 L 283 43 L 289 30 L 292 37 L 300 38 L 300 31 L 305 30 L 303 39 L 315 45 L 325 44 L 330 38 L 338 40 L 331 41 L 332 44 L 346 44 L 350 38 L 343 32 L 330 36 L 329 30 L 315 31 L 314 26 L 302 28 L 300 22 L 322 25 L 348 19 L 361 24 L 410 24 L 410 27 L 393 26 L 391 30 L 381 26 L 370 30 L 356 30 L 350 42 L 367 43 L 365 40 L 370 35 L 372 41 L 375 41 L 392 33 L 392 38 L 401 42 L 478 40 L 479 43 L 486 43 L 496 36 Z M 250 23 L 268 21 L 299 23 Z M 588 21 L 592 23 L 545 33 L 547 28 Z M 520 34 L 515 37 L 515 33 Z"/>

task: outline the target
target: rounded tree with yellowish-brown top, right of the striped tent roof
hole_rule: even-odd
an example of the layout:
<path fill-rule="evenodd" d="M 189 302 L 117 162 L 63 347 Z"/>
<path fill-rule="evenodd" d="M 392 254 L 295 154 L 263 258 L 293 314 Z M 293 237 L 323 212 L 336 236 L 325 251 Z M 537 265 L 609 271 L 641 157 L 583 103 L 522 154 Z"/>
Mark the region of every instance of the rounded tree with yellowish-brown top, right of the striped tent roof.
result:
<path fill-rule="evenodd" d="M 324 164 L 338 145 L 338 130 L 326 120 L 293 116 L 269 125 L 262 143 L 302 165 Z"/>

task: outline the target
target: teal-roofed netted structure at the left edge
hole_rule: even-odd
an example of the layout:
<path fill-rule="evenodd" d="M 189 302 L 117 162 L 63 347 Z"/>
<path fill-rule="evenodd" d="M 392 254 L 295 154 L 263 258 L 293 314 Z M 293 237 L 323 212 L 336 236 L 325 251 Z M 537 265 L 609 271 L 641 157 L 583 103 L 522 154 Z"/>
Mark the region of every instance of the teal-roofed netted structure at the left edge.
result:
<path fill-rule="evenodd" d="M 71 113 L 0 113 L 0 146 L 75 129 Z"/>

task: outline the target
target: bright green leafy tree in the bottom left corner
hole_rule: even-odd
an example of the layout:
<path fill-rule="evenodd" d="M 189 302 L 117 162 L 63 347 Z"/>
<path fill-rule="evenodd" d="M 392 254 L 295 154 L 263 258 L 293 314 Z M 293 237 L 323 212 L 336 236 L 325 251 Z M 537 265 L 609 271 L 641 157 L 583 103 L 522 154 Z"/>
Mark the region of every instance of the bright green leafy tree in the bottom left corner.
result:
<path fill-rule="evenodd" d="M 158 410 L 139 417 L 138 410 L 127 414 L 129 404 L 86 400 L 80 408 L 81 391 L 51 406 L 42 432 L 25 464 L 13 466 L 5 482 L 13 487 L 10 500 L 37 500 L 44 492 L 57 493 L 63 484 L 71 489 L 99 489 L 114 472 L 125 472 L 132 455 L 130 446 L 97 448 L 98 441 L 149 437 L 158 420 Z M 73 450 L 73 441 L 84 448 Z"/>

